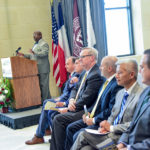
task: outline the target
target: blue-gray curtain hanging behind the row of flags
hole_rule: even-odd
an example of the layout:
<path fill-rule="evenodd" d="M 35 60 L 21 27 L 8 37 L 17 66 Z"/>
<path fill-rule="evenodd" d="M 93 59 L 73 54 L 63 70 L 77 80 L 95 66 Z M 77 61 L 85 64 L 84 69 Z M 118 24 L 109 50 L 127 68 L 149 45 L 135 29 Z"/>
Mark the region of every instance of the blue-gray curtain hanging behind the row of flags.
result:
<path fill-rule="evenodd" d="M 60 0 L 54 0 L 54 10 L 56 20 L 58 21 L 58 2 Z M 83 37 L 83 45 L 87 46 L 87 33 L 86 33 L 86 0 L 77 0 L 78 10 L 80 16 L 80 25 Z M 62 10 L 64 15 L 64 24 L 69 41 L 69 47 L 72 54 L 73 47 L 73 0 L 61 0 Z M 93 28 L 95 31 L 96 45 L 95 48 L 99 51 L 99 60 L 107 55 L 107 41 L 106 41 L 106 28 L 105 28 L 105 13 L 104 13 L 104 0 L 90 0 L 91 17 L 93 22 Z"/>

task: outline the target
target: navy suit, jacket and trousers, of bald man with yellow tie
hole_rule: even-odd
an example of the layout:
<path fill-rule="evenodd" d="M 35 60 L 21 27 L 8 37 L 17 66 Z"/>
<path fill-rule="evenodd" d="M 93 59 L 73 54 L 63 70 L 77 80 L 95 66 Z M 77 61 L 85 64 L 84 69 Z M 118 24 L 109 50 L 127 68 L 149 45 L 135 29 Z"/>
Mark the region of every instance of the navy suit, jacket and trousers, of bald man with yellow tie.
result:
<path fill-rule="evenodd" d="M 73 141 L 76 139 L 80 130 L 83 130 L 84 128 L 92 128 L 92 129 L 96 128 L 97 129 L 101 121 L 107 120 L 107 118 L 111 114 L 112 107 L 115 103 L 116 93 L 122 88 L 123 87 L 117 85 L 115 77 L 109 82 L 106 89 L 103 91 L 101 95 L 101 98 L 98 102 L 98 105 L 94 114 L 95 125 L 87 126 L 83 122 L 82 119 L 68 125 L 67 130 L 66 130 L 67 136 L 66 136 L 66 142 L 65 142 L 65 150 L 70 150 L 73 144 Z M 99 90 L 99 93 L 100 91 L 101 91 L 101 88 Z M 88 112 L 92 112 L 94 105 L 95 103 L 88 109 Z"/>

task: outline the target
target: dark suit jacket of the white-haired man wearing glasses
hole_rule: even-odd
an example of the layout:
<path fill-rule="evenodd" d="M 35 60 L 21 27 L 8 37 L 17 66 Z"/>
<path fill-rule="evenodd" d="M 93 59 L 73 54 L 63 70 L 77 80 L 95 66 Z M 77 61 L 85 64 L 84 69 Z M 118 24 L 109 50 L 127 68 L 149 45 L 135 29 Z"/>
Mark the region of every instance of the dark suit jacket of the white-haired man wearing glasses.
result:
<path fill-rule="evenodd" d="M 102 86 L 104 81 L 105 78 L 101 76 L 99 67 L 97 64 L 95 64 L 88 73 L 86 81 L 83 84 L 79 93 L 78 99 L 76 101 L 76 112 L 83 110 L 84 105 L 86 105 L 87 108 L 92 106 L 92 104 L 96 100 L 99 88 Z M 76 97 L 78 88 L 80 87 L 80 83 L 81 82 L 77 83 L 77 86 L 71 91 L 70 98 Z"/>

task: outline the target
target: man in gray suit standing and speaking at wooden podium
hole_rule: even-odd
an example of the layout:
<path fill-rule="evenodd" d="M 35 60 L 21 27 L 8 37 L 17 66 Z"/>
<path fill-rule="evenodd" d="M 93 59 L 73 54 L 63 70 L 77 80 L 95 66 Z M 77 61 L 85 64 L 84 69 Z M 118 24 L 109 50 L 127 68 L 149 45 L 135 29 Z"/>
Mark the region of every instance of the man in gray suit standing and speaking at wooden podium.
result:
<path fill-rule="evenodd" d="M 48 59 L 49 46 L 42 39 L 42 33 L 40 31 L 35 31 L 33 33 L 33 38 L 35 44 L 32 49 L 29 50 L 30 54 L 23 54 L 18 52 L 18 56 L 23 56 L 25 58 L 36 60 L 38 66 L 38 76 L 41 89 L 41 99 L 42 102 L 45 99 L 51 98 L 49 91 L 49 73 L 50 73 L 50 64 Z"/>

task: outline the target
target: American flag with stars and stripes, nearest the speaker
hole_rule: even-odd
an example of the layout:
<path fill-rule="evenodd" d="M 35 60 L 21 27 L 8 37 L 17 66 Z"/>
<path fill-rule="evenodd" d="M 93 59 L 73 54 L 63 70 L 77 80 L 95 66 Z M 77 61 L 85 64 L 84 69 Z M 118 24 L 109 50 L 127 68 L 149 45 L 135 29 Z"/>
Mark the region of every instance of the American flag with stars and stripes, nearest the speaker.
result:
<path fill-rule="evenodd" d="M 54 7 L 51 6 L 51 15 L 52 15 L 52 56 L 53 56 L 53 76 L 56 80 L 56 85 L 58 87 L 62 87 L 63 83 L 67 80 L 67 71 L 65 68 L 65 53 L 64 49 L 61 47 L 59 42 L 60 37 L 58 34 L 58 30 L 60 30 L 60 26 L 58 28 Z"/>

